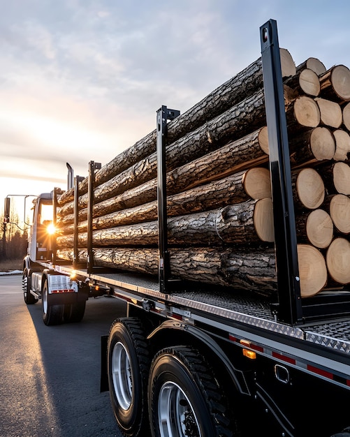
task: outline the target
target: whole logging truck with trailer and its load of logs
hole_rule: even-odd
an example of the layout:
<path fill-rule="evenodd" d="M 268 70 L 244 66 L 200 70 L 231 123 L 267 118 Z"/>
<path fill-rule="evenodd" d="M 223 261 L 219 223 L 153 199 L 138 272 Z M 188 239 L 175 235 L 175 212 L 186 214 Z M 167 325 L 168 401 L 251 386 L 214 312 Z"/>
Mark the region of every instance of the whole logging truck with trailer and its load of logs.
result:
<path fill-rule="evenodd" d="M 45 325 L 127 303 L 101 339 L 124 436 L 350 436 L 350 71 L 260 33 L 194 108 L 34 200 L 24 302 Z"/>

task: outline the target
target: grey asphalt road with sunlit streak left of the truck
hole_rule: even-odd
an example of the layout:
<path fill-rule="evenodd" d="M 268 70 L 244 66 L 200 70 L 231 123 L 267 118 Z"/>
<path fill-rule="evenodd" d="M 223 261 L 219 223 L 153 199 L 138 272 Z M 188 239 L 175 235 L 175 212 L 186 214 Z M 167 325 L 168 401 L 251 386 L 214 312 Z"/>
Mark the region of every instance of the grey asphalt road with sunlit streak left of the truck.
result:
<path fill-rule="evenodd" d="M 0 436 L 121 437 L 100 392 L 100 345 L 124 303 L 89 299 L 82 322 L 48 327 L 21 282 L 0 276 Z"/>

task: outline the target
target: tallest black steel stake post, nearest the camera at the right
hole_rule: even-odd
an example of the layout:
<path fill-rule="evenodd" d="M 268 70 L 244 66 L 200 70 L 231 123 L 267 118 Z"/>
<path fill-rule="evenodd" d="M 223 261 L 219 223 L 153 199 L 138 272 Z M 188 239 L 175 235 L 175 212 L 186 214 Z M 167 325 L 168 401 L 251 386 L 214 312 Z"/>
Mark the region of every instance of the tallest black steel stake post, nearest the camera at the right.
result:
<path fill-rule="evenodd" d="M 261 26 L 260 36 L 275 223 L 277 317 L 295 325 L 302 322 L 302 304 L 277 22 L 269 20 Z"/>

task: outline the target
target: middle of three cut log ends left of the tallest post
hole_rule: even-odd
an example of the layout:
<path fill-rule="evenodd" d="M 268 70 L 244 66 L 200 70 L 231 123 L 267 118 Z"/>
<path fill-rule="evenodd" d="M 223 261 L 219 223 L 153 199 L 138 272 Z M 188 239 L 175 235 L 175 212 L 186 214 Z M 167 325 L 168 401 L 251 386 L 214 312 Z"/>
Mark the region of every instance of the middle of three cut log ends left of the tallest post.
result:
<path fill-rule="evenodd" d="M 247 170 L 242 184 L 247 195 L 254 200 L 271 197 L 270 171 L 267 168 L 254 167 Z"/>

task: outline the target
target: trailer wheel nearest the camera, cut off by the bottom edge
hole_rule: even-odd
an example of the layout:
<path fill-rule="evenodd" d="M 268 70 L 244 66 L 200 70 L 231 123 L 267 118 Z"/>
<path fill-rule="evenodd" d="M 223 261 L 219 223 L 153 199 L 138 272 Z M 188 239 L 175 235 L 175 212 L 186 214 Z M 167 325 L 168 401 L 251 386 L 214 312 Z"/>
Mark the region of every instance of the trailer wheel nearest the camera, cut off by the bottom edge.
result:
<path fill-rule="evenodd" d="M 233 436 L 217 378 L 194 348 L 176 346 L 156 354 L 148 396 L 154 437 Z"/>

